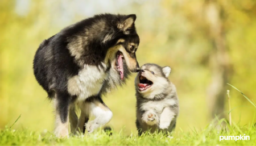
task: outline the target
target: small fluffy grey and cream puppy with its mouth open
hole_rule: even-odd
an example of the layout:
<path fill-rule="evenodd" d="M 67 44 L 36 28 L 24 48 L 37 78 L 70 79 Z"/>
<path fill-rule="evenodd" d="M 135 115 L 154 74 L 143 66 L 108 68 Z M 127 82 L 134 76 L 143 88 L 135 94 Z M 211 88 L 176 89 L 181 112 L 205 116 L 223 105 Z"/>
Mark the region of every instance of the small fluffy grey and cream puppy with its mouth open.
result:
<path fill-rule="evenodd" d="M 168 80 L 169 66 L 144 64 L 135 78 L 137 98 L 136 126 L 143 132 L 171 132 L 176 126 L 179 101 L 176 87 Z"/>

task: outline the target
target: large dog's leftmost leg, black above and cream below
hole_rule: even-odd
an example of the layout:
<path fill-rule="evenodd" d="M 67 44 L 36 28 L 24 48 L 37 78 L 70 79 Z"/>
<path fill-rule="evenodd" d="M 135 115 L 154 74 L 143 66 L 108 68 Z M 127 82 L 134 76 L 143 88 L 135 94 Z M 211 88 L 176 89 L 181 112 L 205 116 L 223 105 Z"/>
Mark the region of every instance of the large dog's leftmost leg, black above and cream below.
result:
<path fill-rule="evenodd" d="M 68 137 L 68 112 L 70 97 L 68 93 L 56 93 L 54 106 L 56 112 L 55 135 Z"/>

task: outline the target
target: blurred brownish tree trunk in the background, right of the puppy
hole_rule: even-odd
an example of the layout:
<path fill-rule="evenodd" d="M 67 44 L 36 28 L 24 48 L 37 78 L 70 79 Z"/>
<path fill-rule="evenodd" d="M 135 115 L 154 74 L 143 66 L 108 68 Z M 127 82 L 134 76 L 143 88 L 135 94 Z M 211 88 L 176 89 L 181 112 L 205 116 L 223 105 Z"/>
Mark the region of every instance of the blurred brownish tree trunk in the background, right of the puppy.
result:
<path fill-rule="evenodd" d="M 225 86 L 232 76 L 229 72 L 230 62 L 224 26 L 226 12 L 220 3 L 214 0 L 206 0 L 203 8 L 208 25 L 205 31 L 209 32 L 207 37 L 212 42 L 212 51 L 209 52 L 212 81 L 208 87 L 208 106 L 212 118 L 216 115 L 224 118 Z"/>

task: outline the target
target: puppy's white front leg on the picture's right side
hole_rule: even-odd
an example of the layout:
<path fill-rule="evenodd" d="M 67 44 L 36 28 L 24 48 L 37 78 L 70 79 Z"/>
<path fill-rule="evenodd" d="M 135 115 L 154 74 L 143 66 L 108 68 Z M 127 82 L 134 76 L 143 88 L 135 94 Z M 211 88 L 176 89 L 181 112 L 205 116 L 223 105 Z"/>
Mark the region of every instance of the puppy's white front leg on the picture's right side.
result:
<path fill-rule="evenodd" d="M 175 113 L 171 110 L 171 108 L 165 107 L 160 116 L 159 128 L 162 130 L 168 129 L 168 127 L 170 126 L 170 124 L 172 122 L 172 119 L 174 119 L 174 118 L 175 118 Z"/>

